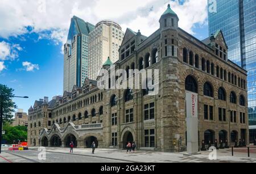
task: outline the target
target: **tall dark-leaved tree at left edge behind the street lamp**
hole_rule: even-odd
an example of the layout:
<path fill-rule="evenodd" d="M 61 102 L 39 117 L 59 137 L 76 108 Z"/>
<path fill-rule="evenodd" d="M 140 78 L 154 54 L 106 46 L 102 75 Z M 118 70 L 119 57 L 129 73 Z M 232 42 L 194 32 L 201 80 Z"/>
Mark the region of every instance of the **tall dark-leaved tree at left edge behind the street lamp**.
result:
<path fill-rule="evenodd" d="M 12 100 L 14 90 L 6 85 L 0 84 L 0 102 L 3 100 L 3 123 L 13 122 L 13 112 L 17 108 L 16 104 Z M 1 97 L 1 95 L 3 95 Z"/>

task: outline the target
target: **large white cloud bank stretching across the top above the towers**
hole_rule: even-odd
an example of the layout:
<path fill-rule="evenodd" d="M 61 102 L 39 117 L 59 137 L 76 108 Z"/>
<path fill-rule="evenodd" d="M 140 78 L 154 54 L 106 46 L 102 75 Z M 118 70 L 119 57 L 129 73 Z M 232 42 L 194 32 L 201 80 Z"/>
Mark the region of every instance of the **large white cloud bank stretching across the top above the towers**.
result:
<path fill-rule="evenodd" d="M 44 3 L 45 2 L 45 3 Z M 19 36 L 32 32 L 44 33 L 39 39 L 52 39 L 63 44 L 67 39 L 70 18 L 77 15 L 96 24 L 103 19 L 112 19 L 135 31 L 141 29 L 143 35 L 150 35 L 159 28 L 158 20 L 170 2 L 180 18 L 180 27 L 193 33 L 193 26 L 207 20 L 207 0 L 1 0 L 0 37 Z M 45 33 L 44 33 L 45 34 Z"/>

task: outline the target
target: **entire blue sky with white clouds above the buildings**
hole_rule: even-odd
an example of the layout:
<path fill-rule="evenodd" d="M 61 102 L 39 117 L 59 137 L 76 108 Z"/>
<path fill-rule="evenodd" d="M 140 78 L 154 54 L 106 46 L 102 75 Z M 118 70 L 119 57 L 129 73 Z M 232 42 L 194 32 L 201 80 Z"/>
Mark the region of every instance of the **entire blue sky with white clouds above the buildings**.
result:
<path fill-rule="evenodd" d="M 96 24 L 111 19 L 122 30 L 150 36 L 168 3 L 179 27 L 208 37 L 207 0 L 1 0 L 0 83 L 13 88 L 18 108 L 27 112 L 35 100 L 63 95 L 63 45 L 73 15 Z"/>

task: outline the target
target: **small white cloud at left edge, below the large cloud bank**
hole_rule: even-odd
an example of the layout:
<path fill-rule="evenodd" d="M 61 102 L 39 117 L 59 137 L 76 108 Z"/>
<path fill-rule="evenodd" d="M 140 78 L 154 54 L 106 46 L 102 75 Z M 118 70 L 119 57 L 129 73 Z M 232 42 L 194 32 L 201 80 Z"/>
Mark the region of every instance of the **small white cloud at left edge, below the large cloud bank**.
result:
<path fill-rule="evenodd" d="M 18 58 L 18 51 L 21 51 L 22 48 L 19 44 L 11 45 L 5 41 L 0 42 L 0 60 L 15 60 Z"/>

